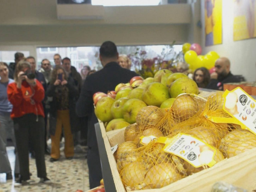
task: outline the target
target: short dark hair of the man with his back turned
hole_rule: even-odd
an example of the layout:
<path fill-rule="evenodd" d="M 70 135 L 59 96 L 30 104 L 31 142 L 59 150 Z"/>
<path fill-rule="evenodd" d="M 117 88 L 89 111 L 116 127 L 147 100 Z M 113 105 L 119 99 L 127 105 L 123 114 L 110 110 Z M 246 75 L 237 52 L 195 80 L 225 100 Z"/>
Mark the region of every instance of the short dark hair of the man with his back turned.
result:
<path fill-rule="evenodd" d="M 100 46 L 100 56 L 104 58 L 113 58 L 117 56 L 117 48 L 116 45 L 111 42 L 111 41 L 105 41 L 101 46 Z"/>

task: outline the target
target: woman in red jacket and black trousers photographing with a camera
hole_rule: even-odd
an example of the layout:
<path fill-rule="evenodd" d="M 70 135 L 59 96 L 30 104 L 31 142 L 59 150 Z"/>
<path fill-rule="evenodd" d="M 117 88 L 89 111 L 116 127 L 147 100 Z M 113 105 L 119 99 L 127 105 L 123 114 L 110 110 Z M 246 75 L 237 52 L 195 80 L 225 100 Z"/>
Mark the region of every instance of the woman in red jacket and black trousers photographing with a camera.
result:
<path fill-rule="evenodd" d="M 14 186 L 20 186 L 30 179 L 28 162 L 28 141 L 36 156 L 37 176 L 40 182 L 50 183 L 46 177 L 44 160 L 44 88 L 30 72 L 30 63 L 20 61 L 14 72 L 14 82 L 7 87 L 8 100 L 13 108 L 14 133 L 20 161 L 20 179 Z"/>

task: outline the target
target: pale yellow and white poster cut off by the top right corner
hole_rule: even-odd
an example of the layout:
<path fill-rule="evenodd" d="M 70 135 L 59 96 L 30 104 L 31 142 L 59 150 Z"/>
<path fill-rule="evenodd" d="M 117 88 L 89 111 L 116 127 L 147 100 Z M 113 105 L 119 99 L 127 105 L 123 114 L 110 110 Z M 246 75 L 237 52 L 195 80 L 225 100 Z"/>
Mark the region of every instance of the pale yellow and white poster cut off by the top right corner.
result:
<path fill-rule="evenodd" d="M 234 0 L 234 41 L 256 37 L 256 0 Z"/>

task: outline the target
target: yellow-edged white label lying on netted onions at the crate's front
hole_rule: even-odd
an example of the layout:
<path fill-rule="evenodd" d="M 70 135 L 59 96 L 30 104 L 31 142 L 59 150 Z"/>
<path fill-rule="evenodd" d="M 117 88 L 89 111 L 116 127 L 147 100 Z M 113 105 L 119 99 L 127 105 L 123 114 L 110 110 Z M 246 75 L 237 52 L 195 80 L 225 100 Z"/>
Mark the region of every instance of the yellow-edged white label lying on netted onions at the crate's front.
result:
<path fill-rule="evenodd" d="M 214 147 L 194 136 L 179 133 L 173 138 L 160 137 L 156 142 L 165 144 L 164 152 L 174 154 L 196 168 L 204 165 L 212 167 L 216 164 Z"/>

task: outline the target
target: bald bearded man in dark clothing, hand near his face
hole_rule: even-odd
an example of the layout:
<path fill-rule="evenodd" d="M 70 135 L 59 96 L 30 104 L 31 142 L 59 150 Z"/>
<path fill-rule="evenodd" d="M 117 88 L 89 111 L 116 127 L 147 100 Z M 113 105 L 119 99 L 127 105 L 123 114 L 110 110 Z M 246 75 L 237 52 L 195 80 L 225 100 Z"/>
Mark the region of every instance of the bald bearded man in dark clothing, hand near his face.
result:
<path fill-rule="evenodd" d="M 221 57 L 215 62 L 216 72 L 211 74 L 210 83 L 206 86 L 207 89 L 223 90 L 224 83 L 240 82 L 236 76 L 230 72 L 230 61 L 226 57 Z"/>

